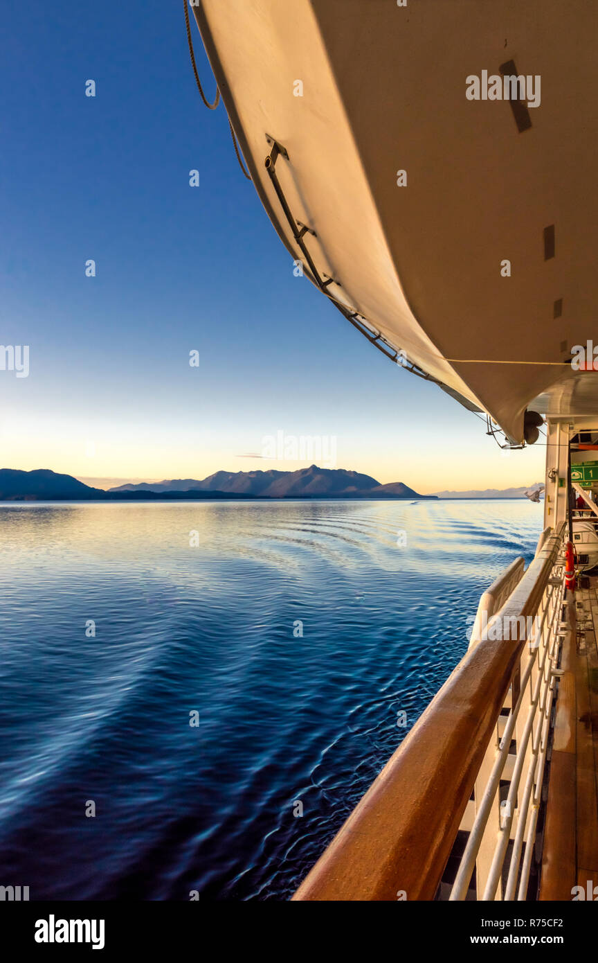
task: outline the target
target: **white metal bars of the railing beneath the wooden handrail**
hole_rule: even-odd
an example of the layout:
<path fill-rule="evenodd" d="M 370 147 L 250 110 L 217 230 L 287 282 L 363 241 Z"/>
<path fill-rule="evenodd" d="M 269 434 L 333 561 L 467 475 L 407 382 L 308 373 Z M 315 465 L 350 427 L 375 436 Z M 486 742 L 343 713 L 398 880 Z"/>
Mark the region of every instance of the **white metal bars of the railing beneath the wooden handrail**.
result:
<path fill-rule="evenodd" d="M 509 600 L 500 612 L 496 612 L 486 630 L 500 623 L 499 638 L 513 641 L 516 637 L 526 639 L 519 664 L 513 672 L 509 716 L 499 716 L 495 737 L 488 744 L 474 788 L 474 820 L 461 828 L 470 830 L 469 839 L 461 857 L 450 899 L 466 898 L 468 883 L 476 867 L 476 892 L 479 900 L 525 898 L 536 840 L 536 823 L 541 797 L 541 786 L 550 738 L 550 716 L 554 695 L 554 666 L 558 660 L 561 637 L 563 599 L 562 561 L 560 559 L 563 538 L 552 541 L 547 551 L 556 559 L 551 577 L 544 586 L 531 613 L 531 624 L 515 622 L 516 606 Z M 538 551 L 544 549 L 547 537 Z M 559 549 L 557 551 L 557 545 Z M 483 596 L 483 599 L 485 596 Z M 520 611 L 520 610 L 519 610 Z M 472 638 L 473 644 L 478 639 Z M 502 738 L 501 738 L 502 736 Z M 515 752 L 510 753 L 511 740 Z M 509 783 L 507 799 L 500 802 L 500 783 Z M 512 842 L 508 859 L 509 843 Z M 518 889 L 517 889 L 517 884 Z"/>

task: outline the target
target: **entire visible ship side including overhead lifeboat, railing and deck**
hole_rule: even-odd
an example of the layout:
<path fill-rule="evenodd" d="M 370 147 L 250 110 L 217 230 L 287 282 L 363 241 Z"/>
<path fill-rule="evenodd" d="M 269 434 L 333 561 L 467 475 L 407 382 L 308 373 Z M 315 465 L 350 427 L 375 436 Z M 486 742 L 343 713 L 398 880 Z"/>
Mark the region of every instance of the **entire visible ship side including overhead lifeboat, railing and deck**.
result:
<path fill-rule="evenodd" d="M 189 9 L 291 258 L 499 443 L 546 446 L 536 558 L 489 586 L 294 898 L 577 898 L 598 886 L 598 5 Z"/>

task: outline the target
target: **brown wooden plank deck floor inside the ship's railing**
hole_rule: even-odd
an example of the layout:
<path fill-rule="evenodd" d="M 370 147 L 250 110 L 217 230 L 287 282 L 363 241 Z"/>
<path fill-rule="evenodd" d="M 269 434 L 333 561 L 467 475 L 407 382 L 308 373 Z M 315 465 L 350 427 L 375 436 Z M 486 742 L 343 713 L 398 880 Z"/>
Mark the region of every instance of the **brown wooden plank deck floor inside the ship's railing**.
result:
<path fill-rule="evenodd" d="M 598 886 L 598 577 L 575 593 L 565 638 L 546 804 L 539 899 L 570 900 Z"/>

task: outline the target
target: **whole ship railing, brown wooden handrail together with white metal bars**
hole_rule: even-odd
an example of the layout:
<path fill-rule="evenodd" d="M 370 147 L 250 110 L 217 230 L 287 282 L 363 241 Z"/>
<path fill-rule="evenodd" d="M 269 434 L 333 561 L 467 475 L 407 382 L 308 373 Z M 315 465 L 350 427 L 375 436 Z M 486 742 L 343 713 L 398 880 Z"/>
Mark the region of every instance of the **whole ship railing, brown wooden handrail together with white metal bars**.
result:
<path fill-rule="evenodd" d="M 535 559 L 294 899 L 433 899 L 442 890 L 453 900 L 534 898 L 561 642 L 575 631 L 564 534 L 563 524 L 540 536 Z M 466 842 L 454 882 L 440 886 L 458 834 Z"/>

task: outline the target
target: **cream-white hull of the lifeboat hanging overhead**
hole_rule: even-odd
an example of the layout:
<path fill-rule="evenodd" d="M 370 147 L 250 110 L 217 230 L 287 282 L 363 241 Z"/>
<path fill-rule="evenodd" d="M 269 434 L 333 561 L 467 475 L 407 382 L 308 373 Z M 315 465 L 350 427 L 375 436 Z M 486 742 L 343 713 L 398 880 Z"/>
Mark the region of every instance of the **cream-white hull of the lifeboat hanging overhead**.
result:
<path fill-rule="evenodd" d="M 598 412 L 598 373 L 567 363 L 596 331 L 598 4 L 201 0 L 194 11 L 293 258 L 266 135 L 287 149 L 277 175 L 293 217 L 316 232 L 306 241 L 319 273 L 341 285 L 330 294 L 390 346 L 513 440 L 527 408 L 553 420 Z M 521 132 L 509 101 L 465 96 L 468 75 L 509 61 L 541 77 Z"/>

